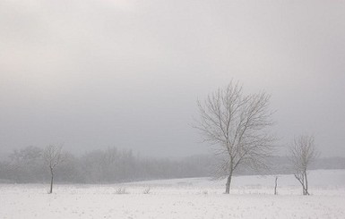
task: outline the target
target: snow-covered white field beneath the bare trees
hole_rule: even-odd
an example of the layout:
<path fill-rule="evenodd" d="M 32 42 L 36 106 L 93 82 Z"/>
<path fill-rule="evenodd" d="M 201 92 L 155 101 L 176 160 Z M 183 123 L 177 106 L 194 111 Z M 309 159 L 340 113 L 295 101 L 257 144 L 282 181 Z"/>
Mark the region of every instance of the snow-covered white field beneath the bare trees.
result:
<path fill-rule="evenodd" d="M 0 184 L 0 218 L 345 218 L 345 170 L 310 172 L 307 197 L 292 175 L 280 175 L 278 196 L 274 176 L 237 176 L 230 195 L 224 184 L 193 178 L 56 185 L 50 195 L 47 185 Z"/>

